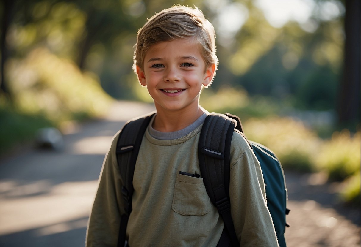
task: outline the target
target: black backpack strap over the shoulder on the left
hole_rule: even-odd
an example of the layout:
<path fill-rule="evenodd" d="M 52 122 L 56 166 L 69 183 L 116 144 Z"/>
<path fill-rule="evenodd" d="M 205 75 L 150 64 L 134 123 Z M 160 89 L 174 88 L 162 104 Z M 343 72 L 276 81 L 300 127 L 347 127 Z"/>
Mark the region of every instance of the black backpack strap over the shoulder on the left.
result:
<path fill-rule="evenodd" d="M 142 139 L 152 119 L 152 114 L 131 120 L 123 127 L 117 142 L 117 161 L 123 180 L 122 196 L 124 199 L 125 214 L 121 216 L 119 227 L 118 247 L 124 247 L 126 241 L 126 228 L 130 212 L 132 211 L 133 175 L 135 162 Z"/>

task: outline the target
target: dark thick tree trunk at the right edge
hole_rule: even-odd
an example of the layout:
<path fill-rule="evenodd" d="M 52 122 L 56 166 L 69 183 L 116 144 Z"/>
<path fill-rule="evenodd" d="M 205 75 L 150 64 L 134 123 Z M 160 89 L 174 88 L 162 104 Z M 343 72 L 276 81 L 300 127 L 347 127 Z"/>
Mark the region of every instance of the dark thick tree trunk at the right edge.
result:
<path fill-rule="evenodd" d="M 338 120 L 340 126 L 360 126 L 361 115 L 361 1 L 345 0 L 344 68 L 340 85 Z"/>

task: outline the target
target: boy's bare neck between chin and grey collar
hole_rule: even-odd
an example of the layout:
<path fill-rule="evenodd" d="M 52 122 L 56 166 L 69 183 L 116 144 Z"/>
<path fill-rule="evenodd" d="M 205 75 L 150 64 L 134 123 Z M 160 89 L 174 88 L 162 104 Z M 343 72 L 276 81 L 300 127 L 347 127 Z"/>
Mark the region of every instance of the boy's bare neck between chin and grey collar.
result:
<path fill-rule="evenodd" d="M 161 132 L 182 130 L 196 121 L 205 111 L 198 105 L 196 111 L 157 111 L 153 129 Z"/>

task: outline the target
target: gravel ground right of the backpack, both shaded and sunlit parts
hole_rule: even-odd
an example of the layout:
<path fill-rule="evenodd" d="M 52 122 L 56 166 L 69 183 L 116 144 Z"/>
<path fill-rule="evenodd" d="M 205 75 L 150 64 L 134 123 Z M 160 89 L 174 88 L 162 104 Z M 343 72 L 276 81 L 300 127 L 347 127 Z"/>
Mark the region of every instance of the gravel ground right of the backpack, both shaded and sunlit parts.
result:
<path fill-rule="evenodd" d="M 340 203 L 335 184 L 324 183 L 322 174 L 285 171 L 285 176 L 291 209 L 287 246 L 360 246 L 360 208 Z"/>

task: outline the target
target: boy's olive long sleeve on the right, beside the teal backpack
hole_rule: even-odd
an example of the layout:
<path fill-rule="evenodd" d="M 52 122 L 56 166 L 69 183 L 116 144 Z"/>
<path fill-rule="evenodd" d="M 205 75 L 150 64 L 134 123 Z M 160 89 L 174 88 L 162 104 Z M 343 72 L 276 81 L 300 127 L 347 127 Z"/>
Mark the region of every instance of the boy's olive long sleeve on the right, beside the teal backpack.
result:
<path fill-rule="evenodd" d="M 244 146 L 234 134 L 233 146 Z M 243 153 L 242 153 L 243 152 Z M 230 170 L 231 214 L 240 246 L 277 247 L 277 237 L 266 204 L 265 185 L 260 164 L 251 148 L 233 152 Z"/>

